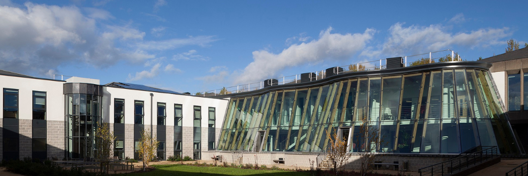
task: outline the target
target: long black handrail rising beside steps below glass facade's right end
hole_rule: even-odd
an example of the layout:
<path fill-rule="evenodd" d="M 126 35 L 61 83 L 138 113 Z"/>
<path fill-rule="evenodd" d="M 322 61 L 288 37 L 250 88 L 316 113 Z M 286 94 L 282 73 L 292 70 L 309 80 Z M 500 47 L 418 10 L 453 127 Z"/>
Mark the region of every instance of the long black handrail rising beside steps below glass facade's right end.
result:
<path fill-rule="evenodd" d="M 497 146 L 482 146 L 482 150 L 459 156 L 438 164 L 433 164 L 418 170 L 420 175 L 452 174 L 468 169 L 477 163 L 498 157 Z"/>

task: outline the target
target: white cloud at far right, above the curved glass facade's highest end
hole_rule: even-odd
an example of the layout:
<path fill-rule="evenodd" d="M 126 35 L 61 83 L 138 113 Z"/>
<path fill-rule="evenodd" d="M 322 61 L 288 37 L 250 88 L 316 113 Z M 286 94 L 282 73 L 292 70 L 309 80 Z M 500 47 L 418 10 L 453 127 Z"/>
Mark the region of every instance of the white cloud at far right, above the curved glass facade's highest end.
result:
<path fill-rule="evenodd" d="M 507 27 L 501 29 L 478 29 L 476 31 L 451 33 L 442 25 L 404 27 L 396 23 L 389 29 L 389 38 L 379 50 L 365 50 L 362 55 L 378 57 L 380 55 L 394 56 L 408 53 L 423 53 L 452 49 L 455 45 L 475 48 L 488 47 L 504 43 L 501 41 L 511 35 Z"/>

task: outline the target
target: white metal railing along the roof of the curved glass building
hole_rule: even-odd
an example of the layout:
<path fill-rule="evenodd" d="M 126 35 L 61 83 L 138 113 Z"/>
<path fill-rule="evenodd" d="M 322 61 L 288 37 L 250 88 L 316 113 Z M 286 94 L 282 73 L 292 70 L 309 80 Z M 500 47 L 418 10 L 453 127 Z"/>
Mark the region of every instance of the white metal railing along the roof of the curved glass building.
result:
<path fill-rule="evenodd" d="M 442 50 L 442 51 L 422 53 L 422 54 L 414 54 L 414 55 L 408 55 L 408 56 L 402 57 L 401 64 L 403 67 L 411 67 L 411 66 L 418 66 L 420 64 L 428 64 L 428 63 L 435 63 L 435 62 L 448 62 L 448 61 L 461 61 L 460 55 L 458 55 L 457 53 L 449 49 Z M 332 73 L 327 74 L 326 71 L 328 70 L 314 71 L 311 73 L 309 72 L 310 73 L 309 79 L 311 81 L 314 81 L 314 80 L 324 79 L 329 74 L 339 75 L 339 74 L 343 74 L 347 72 L 354 72 L 354 71 L 382 70 L 382 69 L 386 69 L 387 68 L 386 66 L 387 66 L 387 59 L 354 63 L 354 64 L 350 64 L 346 66 L 334 67 L 333 74 Z M 276 86 L 276 85 L 298 84 L 301 82 L 300 80 L 301 80 L 301 74 L 285 76 L 285 77 L 280 77 L 280 78 L 273 78 L 273 79 L 268 79 L 265 81 L 253 82 L 250 84 L 224 87 L 221 89 L 201 91 L 201 92 L 197 92 L 195 95 L 203 96 L 203 97 L 212 97 L 212 96 L 218 96 L 218 95 L 236 94 L 236 93 L 241 93 L 241 92 L 259 90 L 259 89 L 267 87 L 268 85 Z"/>

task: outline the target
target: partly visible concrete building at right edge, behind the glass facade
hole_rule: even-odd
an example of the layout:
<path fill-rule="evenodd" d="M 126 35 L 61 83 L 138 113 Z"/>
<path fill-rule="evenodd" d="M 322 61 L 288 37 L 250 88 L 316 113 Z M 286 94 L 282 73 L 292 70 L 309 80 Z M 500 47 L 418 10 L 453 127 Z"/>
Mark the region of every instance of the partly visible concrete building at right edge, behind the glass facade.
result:
<path fill-rule="evenodd" d="M 481 61 L 489 68 L 499 95 L 507 107 L 510 123 L 524 149 L 528 149 L 528 48 L 495 55 Z"/>

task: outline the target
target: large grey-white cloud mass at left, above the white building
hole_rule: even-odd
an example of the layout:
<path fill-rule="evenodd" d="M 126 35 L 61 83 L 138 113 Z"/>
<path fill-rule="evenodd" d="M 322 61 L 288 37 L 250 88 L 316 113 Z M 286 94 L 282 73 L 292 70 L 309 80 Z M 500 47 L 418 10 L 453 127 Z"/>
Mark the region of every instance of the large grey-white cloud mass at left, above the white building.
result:
<path fill-rule="evenodd" d="M 101 1 L 107 2 L 107 1 Z M 0 6 L 0 68 L 28 75 L 51 75 L 65 62 L 101 68 L 117 61 L 139 63 L 156 58 L 150 50 L 184 45 L 207 46 L 213 36 L 144 41 L 145 32 L 127 25 L 108 25 L 107 11 L 76 6 L 25 3 Z"/>

